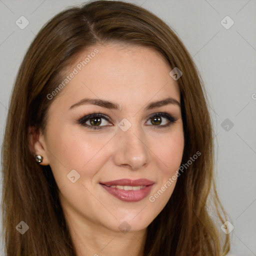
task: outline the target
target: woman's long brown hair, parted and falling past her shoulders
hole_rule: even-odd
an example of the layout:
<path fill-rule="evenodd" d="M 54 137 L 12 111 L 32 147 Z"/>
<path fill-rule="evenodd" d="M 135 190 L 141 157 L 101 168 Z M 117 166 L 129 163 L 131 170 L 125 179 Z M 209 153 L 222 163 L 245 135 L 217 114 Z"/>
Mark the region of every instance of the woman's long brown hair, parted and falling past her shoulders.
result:
<path fill-rule="evenodd" d="M 28 128 L 43 131 L 54 100 L 47 94 L 63 80 L 75 57 L 89 46 L 111 42 L 155 49 L 170 70 L 182 71 L 177 80 L 185 139 L 181 164 L 201 153 L 180 173 L 169 201 L 149 224 L 144 255 L 225 255 L 229 237 L 221 236 L 219 226 L 226 213 L 214 183 L 212 123 L 199 72 L 178 36 L 161 19 L 135 4 L 104 0 L 55 15 L 38 32 L 20 65 L 2 146 L 6 255 L 75 255 L 50 166 L 35 162 Z M 23 235 L 15 229 L 20 221 L 29 226 Z"/>

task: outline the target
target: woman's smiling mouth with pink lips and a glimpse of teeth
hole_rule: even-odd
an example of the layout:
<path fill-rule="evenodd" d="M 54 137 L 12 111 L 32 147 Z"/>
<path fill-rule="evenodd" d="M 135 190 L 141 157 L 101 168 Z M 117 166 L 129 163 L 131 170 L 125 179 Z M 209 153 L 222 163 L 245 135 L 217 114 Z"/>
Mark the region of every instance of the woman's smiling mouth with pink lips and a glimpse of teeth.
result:
<path fill-rule="evenodd" d="M 136 202 L 147 196 L 154 182 L 149 179 L 118 179 L 99 183 L 109 194 L 122 201 Z"/>

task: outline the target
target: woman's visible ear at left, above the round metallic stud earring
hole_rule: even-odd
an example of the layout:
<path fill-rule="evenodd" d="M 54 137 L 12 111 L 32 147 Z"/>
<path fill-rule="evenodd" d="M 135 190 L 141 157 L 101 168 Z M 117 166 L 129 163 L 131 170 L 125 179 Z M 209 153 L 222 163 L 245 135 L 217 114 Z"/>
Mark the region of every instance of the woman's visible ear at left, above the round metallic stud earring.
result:
<path fill-rule="evenodd" d="M 44 137 L 41 130 L 36 130 L 35 127 L 28 127 L 29 148 L 34 157 L 39 154 L 43 157 L 40 165 L 49 165 L 47 150 L 44 142 Z"/>

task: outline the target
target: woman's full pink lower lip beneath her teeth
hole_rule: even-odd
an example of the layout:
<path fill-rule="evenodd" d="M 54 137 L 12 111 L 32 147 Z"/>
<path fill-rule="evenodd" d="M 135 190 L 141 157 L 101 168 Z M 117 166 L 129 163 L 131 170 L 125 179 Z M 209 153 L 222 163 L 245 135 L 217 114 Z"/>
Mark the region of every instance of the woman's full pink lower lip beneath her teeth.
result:
<path fill-rule="evenodd" d="M 124 190 L 100 184 L 108 193 L 126 202 L 137 202 L 144 199 L 150 192 L 153 184 L 147 185 L 139 190 Z"/>

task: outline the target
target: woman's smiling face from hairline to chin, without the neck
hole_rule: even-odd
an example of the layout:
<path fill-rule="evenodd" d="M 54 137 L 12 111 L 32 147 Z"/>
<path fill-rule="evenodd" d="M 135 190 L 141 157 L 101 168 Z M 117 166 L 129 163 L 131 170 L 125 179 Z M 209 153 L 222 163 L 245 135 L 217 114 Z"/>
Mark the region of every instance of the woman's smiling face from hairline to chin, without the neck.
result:
<path fill-rule="evenodd" d="M 184 146 L 179 88 L 170 71 L 152 49 L 95 46 L 47 96 L 52 103 L 39 137 L 45 151 L 38 152 L 69 219 L 137 231 L 163 209 Z"/>

